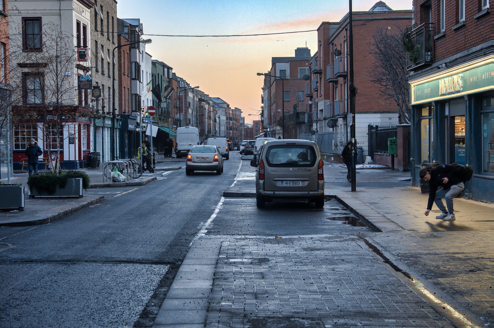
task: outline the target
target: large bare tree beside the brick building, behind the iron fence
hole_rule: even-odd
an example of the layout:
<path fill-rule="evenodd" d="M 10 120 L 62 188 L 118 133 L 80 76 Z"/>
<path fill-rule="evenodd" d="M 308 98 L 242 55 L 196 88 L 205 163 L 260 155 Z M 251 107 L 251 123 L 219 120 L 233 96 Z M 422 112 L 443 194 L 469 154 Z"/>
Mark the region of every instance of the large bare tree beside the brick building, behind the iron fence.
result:
<path fill-rule="evenodd" d="M 407 74 L 407 52 L 401 42 L 404 29 L 390 32 L 385 27 L 377 27 L 369 52 L 375 59 L 375 66 L 369 70 L 371 82 L 379 86 L 385 99 L 393 99 L 398 108 L 400 124 L 410 123 L 408 104 L 409 84 Z"/>

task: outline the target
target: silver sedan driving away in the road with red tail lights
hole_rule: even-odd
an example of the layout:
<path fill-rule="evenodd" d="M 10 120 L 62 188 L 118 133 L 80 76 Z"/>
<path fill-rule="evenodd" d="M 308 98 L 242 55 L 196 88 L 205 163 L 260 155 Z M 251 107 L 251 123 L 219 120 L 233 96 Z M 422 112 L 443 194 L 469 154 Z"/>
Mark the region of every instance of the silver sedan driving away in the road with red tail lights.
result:
<path fill-rule="evenodd" d="M 197 145 L 192 147 L 185 162 L 185 174 L 194 171 L 216 171 L 223 172 L 223 157 L 218 147 L 213 145 Z"/>

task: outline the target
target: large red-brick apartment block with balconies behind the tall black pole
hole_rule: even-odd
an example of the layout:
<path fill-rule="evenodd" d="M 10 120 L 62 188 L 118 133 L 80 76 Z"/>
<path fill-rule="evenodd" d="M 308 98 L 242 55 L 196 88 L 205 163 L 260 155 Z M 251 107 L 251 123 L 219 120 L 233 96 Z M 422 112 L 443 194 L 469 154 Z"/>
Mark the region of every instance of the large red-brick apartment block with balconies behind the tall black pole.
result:
<path fill-rule="evenodd" d="M 411 10 L 392 10 L 384 2 L 375 3 L 369 11 L 352 12 L 355 126 L 357 146 L 368 155 L 370 124 L 396 125 L 396 103 L 384 99 L 371 82 L 374 61 L 369 53 L 372 36 L 377 27 L 396 31 L 412 22 Z M 323 152 L 340 154 L 350 139 L 347 126 L 348 97 L 348 13 L 339 22 L 323 22 L 318 28 L 318 49 L 311 60 L 311 81 L 305 96 L 312 99 L 312 129 L 323 134 L 320 148 Z M 309 120 L 308 120 L 309 121 Z M 310 122 L 307 122 L 310 124 Z M 306 138 L 310 135 L 306 135 Z"/>

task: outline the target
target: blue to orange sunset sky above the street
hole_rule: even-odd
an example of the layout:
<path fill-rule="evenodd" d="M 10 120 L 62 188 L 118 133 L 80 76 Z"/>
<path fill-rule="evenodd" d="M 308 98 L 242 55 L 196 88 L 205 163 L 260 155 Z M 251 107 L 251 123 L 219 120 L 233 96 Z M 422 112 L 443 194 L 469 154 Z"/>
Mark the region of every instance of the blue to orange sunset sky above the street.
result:
<path fill-rule="evenodd" d="M 366 11 L 377 0 L 354 0 L 353 11 Z M 394 10 L 412 9 L 412 0 L 384 1 Z M 256 120 L 263 78 L 271 57 L 294 56 L 297 47 L 316 50 L 317 33 L 255 37 L 186 38 L 158 35 L 231 35 L 315 30 L 323 21 L 339 21 L 346 0 L 118 0 L 119 18 L 140 18 L 146 51 L 173 67 L 191 85 L 242 109 L 246 123 Z"/>

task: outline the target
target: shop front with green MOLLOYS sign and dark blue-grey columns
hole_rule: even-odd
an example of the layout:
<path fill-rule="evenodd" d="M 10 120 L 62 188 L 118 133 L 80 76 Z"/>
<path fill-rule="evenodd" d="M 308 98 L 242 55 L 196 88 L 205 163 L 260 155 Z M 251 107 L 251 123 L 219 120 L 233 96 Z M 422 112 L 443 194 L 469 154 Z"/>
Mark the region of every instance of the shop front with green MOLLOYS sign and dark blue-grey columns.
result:
<path fill-rule="evenodd" d="M 494 201 L 493 74 L 487 56 L 410 82 L 412 185 L 429 163 L 466 164 L 465 198 Z"/>

